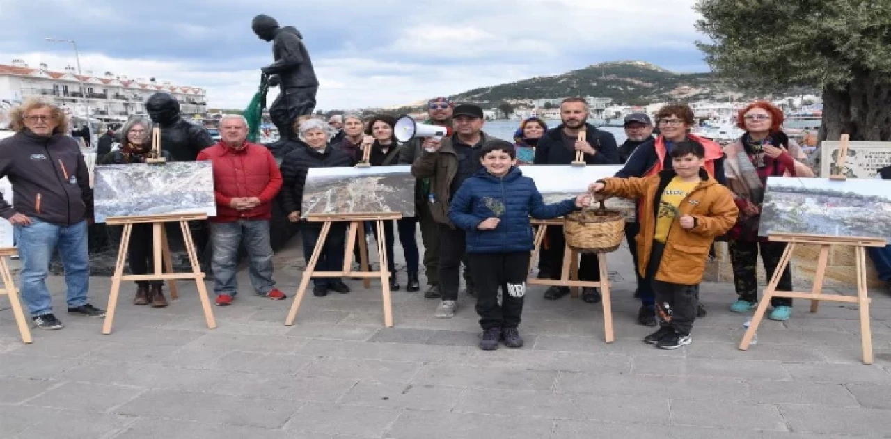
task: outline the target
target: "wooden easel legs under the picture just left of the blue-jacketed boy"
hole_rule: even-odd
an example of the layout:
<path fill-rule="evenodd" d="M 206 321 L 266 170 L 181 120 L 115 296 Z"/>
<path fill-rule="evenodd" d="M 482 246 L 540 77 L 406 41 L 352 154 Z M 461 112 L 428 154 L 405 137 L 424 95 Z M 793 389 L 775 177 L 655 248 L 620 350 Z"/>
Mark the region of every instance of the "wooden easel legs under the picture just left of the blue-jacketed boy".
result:
<path fill-rule="evenodd" d="M 344 276 L 352 276 L 364 278 L 365 288 L 368 288 L 370 286 L 372 278 L 380 278 L 381 287 L 383 289 L 384 325 L 386 325 L 387 328 L 392 328 L 393 307 L 390 303 L 389 291 L 389 276 L 391 273 L 387 269 L 387 241 L 384 237 L 384 221 L 392 221 L 400 218 L 402 218 L 402 214 L 307 215 L 307 221 L 323 222 L 322 232 L 319 234 L 319 239 L 315 241 L 313 255 L 309 258 L 309 261 L 307 261 L 307 269 L 304 270 L 303 278 L 300 279 L 300 286 L 297 289 L 297 297 L 294 298 L 294 303 L 290 306 L 290 312 L 288 313 L 288 318 L 285 320 L 284 324 L 286 326 L 291 326 L 294 324 L 294 320 L 297 318 L 297 312 L 300 309 L 300 303 L 303 302 L 303 297 L 307 293 L 309 280 L 311 280 L 313 277 L 339 278 Z M 319 256 L 322 255 L 322 250 L 325 247 L 325 240 L 328 239 L 328 233 L 331 232 L 331 224 L 334 224 L 335 222 L 346 221 L 349 222 L 349 230 L 347 231 L 347 248 L 344 252 L 343 257 L 343 270 L 339 272 L 316 272 L 315 264 L 318 263 Z M 358 232 L 362 232 L 362 234 L 359 235 L 359 246 L 360 249 L 363 250 L 362 258 L 365 259 L 365 235 L 363 229 L 363 222 L 365 221 L 374 221 L 376 224 L 378 234 L 378 261 L 380 264 L 380 269 L 377 272 L 366 271 L 367 262 L 365 261 L 363 261 L 362 272 L 352 271 L 353 249 L 356 247 L 356 234 Z"/>

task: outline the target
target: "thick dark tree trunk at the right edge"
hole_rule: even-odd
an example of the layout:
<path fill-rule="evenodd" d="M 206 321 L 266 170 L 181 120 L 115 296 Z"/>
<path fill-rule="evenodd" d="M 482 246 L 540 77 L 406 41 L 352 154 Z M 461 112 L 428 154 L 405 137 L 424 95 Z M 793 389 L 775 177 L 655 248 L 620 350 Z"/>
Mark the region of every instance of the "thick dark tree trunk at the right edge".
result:
<path fill-rule="evenodd" d="M 823 89 L 821 140 L 891 141 L 891 81 L 879 73 L 854 71 L 845 90 Z"/>

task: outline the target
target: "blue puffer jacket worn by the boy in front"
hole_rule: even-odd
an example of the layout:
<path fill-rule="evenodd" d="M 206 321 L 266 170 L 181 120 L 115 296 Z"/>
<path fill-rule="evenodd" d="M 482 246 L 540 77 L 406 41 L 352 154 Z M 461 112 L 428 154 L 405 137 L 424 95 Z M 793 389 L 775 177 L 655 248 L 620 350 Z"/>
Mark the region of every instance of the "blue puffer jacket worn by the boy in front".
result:
<path fill-rule="evenodd" d="M 495 211 L 503 210 L 501 215 Z M 544 204 L 535 182 L 524 177 L 519 167 L 502 178 L 486 169 L 468 178 L 454 194 L 448 217 L 467 232 L 468 253 L 506 253 L 529 251 L 533 248 L 532 224 L 536 219 L 551 219 L 576 210 L 576 200 L 566 199 Z M 498 217 L 501 222 L 494 230 L 478 230 L 486 218 Z"/>

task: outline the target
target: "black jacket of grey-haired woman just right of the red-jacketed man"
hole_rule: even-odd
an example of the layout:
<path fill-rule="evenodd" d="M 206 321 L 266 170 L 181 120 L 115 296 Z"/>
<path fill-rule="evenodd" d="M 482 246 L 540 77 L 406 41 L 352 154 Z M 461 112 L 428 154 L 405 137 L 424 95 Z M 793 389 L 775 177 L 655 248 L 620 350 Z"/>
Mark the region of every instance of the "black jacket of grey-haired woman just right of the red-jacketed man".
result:
<path fill-rule="evenodd" d="M 303 188 L 307 183 L 310 167 L 349 167 L 347 153 L 328 145 L 324 152 L 301 148 L 290 152 L 282 160 L 282 191 L 280 199 L 285 214 L 298 212 L 303 205 Z"/>

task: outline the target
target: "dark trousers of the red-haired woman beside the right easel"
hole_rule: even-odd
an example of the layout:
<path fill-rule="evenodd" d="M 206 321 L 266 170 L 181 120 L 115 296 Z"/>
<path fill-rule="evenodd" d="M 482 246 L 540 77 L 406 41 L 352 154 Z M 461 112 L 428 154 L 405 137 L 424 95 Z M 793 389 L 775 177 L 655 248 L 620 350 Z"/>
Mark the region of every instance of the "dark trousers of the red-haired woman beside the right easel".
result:
<path fill-rule="evenodd" d="M 730 249 L 730 262 L 733 265 L 733 285 L 740 299 L 748 302 L 758 301 L 758 249 L 761 250 L 761 260 L 764 261 L 764 272 L 767 280 L 773 277 L 783 251 L 786 250 L 785 242 L 748 242 L 744 240 L 731 240 L 728 243 Z M 790 265 L 786 266 L 780 276 L 777 289 L 781 291 L 792 290 L 792 272 Z M 792 306 L 789 297 L 773 297 L 772 306 Z"/>

